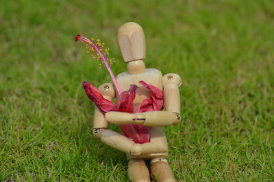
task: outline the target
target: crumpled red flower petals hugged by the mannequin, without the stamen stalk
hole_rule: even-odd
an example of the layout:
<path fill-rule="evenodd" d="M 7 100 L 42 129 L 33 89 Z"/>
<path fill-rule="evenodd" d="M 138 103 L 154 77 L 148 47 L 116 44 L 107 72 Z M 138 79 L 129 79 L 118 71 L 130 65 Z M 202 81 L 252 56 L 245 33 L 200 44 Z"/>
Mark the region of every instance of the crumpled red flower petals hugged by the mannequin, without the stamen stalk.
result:
<path fill-rule="evenodd" d="M 162 110 L 164 98 L 162 91 L 144 81 L 140 81 L 140 83 L 149 89 L 151 92 L 151 97 L 143 100 L 142 104 L 138 106 L 136 112 Z M 103 112 L 103 114 L 114 110 L 129 113 L 134 112 L 133 102 L 136 96 L 136 89 L 138 88 L 136 85 L 130 85 L 128 91 L 123 91 L 123 93 L 121 93 L 119 98 L 116 100 L 115 106 L 109 100 L 105 100 L 99 90 L 93 87 L 90 82 L 83 82 L 83 87 L 90 100 L 95 102 L 96 106 L 101 110 L 101 112 Z M 127 138 L 136 143 L 142 144 L 145 142 L 150 142 L 149 127 L 147 126 L 127 124 L 120 125 L 120 128 Z"/>

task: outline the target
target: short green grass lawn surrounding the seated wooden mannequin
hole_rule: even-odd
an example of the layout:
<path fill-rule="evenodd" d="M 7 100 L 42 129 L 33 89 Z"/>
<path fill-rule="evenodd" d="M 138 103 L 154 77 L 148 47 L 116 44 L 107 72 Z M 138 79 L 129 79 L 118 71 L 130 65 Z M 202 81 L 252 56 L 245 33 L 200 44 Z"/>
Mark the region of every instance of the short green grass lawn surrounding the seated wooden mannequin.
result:
<path fill-rule="evenodd" d="M 125 154 L 92 137 L 82 89 L 110 76 L 74 42 L 103 40 L 125 72 L 116 30 L 127 21 L 145 30 L 147 67 L 182 76 L 182 122 L 164 128 L 175 178 L 274 180 L 273 1 L 0 6 L 0 181 L 128 181 Z"/>

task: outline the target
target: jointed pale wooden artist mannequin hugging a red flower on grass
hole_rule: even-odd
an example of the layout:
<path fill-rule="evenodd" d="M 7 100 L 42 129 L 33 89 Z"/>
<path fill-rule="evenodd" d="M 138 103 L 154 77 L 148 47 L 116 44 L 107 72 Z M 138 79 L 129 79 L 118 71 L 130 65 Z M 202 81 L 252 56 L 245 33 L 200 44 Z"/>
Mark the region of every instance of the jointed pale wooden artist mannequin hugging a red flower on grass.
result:
<path fill-rule="evenodd" d="M 178 87 L 182 80 L 177 74 L 162 76 L 159 70 L 145 69 L 145 63 L 142 61 L 146 57 L 145 34 L 142 27 L 135 22 L 127 22 L 119 28 L 117 42 L 123 60 L 127 63 L 127 72 L 119 74 L 116 78 L 121 91 L 127 91 L 130 85 L 139 87 L 134 100 L 136 109 L 144 99 L 150 97 L 149 90 L 139 83 L 143 80 L 163 91 L 164 110 L 132 114 L 113 111 L 103 115 L 95 108 L 93 134 L 106 145 L 127 153 L 128 176 L 131 181 L 150 181 L 145 160 L 150 160 L 151 175 L 158 181 L 175 181 L 166 160 L 168 144 L 162 126 L 174 125 L 181 120 Z M 101 85 L 99 91 L 108 100 L 119 96 L 111 83 Z M 149 126 L 151 142 L 137 144 L 122 134 L 108 130 L 108 122 Z"/>

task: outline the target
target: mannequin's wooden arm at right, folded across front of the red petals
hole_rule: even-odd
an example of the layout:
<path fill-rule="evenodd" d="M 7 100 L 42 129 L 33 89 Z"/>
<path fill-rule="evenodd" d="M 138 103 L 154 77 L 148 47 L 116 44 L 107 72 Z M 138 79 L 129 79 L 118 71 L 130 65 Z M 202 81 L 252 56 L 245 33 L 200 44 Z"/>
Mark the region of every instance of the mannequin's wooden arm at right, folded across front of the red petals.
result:
<path fill-rule="evenodd" d="M 181 100 L 179 86 L 182 80 L 177 74 L 166 74 L 162 78 L 164 88 L 164 108 L 162 111 L 126 113 L 107 112 L 105 119 L 114 124 L 136 124 L 152 127 L 175 125 L 181 121 Z"/>

